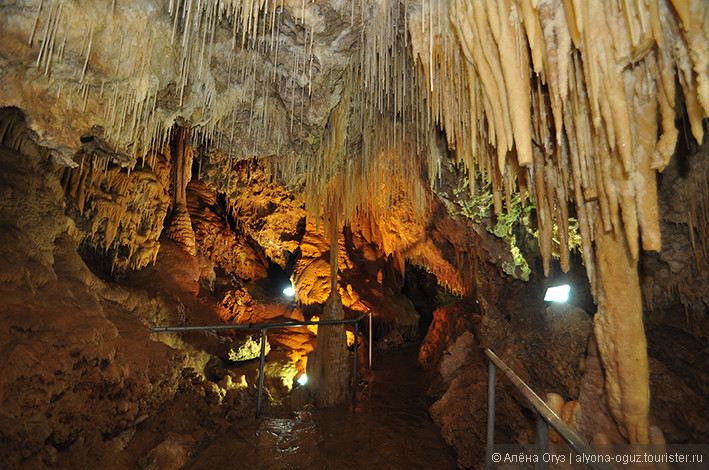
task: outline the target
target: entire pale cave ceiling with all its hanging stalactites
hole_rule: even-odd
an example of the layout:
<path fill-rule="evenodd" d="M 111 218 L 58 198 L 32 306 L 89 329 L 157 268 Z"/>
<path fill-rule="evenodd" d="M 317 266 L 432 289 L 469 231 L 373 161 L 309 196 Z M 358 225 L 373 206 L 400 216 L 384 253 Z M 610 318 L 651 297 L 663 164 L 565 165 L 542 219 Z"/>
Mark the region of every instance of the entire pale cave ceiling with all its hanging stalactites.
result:
<path fill-rule="evenodd" d="M 567 268 L 577 221 L 592 284 L 598 227 L 661 246 L 657 171 L 686 113 L 709 114 L 709 7 L 696 1 L 16 0 L 0 4 L 0 106 L 56 162 L 122 167 L 176 125 L 231 192 L 268 160 L 312 214 L 430 211 L 446 159 L 536 204 Z M 679 111 L 678 111 L 679 110 Z M 438 137 L 437 137 L 438 136 Z M 443 142 L 441 142 L 443 141 Z M 88 143 L 88 144 L 87 144 Z M 98 151 L 97 151 L 98 149 Z"/>

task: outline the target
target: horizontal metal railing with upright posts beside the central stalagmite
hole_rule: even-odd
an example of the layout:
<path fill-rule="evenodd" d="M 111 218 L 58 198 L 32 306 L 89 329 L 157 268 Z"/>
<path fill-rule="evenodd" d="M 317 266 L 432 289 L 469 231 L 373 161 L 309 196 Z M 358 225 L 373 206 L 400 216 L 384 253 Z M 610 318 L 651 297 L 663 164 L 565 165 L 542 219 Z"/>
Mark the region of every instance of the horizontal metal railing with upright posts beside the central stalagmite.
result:
<path fill-rule="evenodd" d="M 357 348 L 359 346 L 359 322 L 364 317 L 369 317 L 369 368 L 372 368 L 372 310 L 362 315 L 359 318 L 347 320 L 320 320 L 320 321 L 292 321 L 283 323 L 252 323 L 248 325 L 207 325 L 207 326 L 153 326 L 150 328 L 151 333 L 179 332 L 188 331 L 219 331 L 219 330 L 261 330 L 261 356 L 259 362 L 258 375 L 258 399 L 256 401 L 256 417 L 261 416 L 261 408 L 263 405 L 263 375 L 266 366 L 266 331 L 273 328 L 296 328 L 300 326 L 317 325 L 343 325 L 347 323 L 354 324 L 354 359 L 352 360 L 352 407 L 357 405 Z"/>

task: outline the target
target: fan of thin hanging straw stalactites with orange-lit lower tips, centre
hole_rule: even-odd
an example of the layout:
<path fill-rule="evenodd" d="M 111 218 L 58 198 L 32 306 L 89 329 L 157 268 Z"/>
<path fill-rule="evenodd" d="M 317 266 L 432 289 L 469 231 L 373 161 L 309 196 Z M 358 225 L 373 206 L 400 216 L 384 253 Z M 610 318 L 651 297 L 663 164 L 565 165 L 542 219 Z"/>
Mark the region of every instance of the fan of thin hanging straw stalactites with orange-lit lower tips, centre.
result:
<path fill-rule="evenodd" d="M 413 217 L 428 208 L 421 164 L 437 174 L 431 151 L 433 122 L 417 80 L 402 2 L 361 2 L 358 52 L 342 80 L 318 153 L 306 158 L 309 215 L 324 221 L 337 212 L 341 223 L 386 218 L 406 194 Z M 435 178 L 431 178 L 433 181 Z"/>

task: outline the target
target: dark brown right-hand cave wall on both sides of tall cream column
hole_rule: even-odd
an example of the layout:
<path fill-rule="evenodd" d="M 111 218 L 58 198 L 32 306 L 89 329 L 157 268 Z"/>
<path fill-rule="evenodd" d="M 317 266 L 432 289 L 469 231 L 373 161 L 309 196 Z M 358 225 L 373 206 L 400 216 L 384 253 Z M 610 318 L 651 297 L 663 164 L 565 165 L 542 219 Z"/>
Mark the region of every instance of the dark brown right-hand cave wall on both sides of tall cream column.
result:
<path fill-rule="evenodd" d="M 709 438 L 703 366 L 709 272 L 702 256 L 701 240 L 706 238 L 699 235 L 701 223 L 695 222 L 707 214 L 707 142 L 698 145 L 689 136 L 683 142 L 688 145 L 678 146 L 658 180 L 663 249 L 642 252 L 639 263 L 650 424 L 668 443 Z M 436 310 L 421 346 L 419 358 L 433 378 L 431 415 L 458 450 L 462 467 L 484 460 L 484 347 L 496 352 L 589 442 L 626 440 L 607 404 L 606 371 L 593 332 L 595 305 L 588 302 L 588 292 L 573 295 L 589 288 L 580 259 L 572 257 L 569 273 L 552 263 L 550 278 L 542 277 L 541 260 L 529 261 L 532 275 L 527 283 L 502 274 L 499 265 L 482 265 L 477 297 Z M 573 286 L 568 306 L 541 300 L 547 286 L 562 282 Z M 496 442 L 534 442 L 532 409 L 504 377 L 498 378 L 497 388 Z"/>

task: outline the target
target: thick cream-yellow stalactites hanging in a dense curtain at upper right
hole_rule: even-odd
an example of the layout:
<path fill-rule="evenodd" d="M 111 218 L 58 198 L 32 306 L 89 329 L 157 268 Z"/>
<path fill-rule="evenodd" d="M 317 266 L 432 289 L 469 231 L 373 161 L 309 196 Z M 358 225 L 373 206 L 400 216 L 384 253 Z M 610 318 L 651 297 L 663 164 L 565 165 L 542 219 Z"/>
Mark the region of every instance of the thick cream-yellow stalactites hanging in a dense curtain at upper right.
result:
<path fill-rule="evenodd" d="M 489 174 L 498 213 L 503 194 L 534 196 L 545 269 L 554 224 L 568 268 L 570 215 L 590 279 L 597 229 L 624 233 L 635 258 L 639 240 L 660 249 L 655 173 L 677 139 L 675 83 L 699 142 L 709 115 L 709 4 L 422 0 L 410 11 L 432 115 L 458 158 Z"/>

